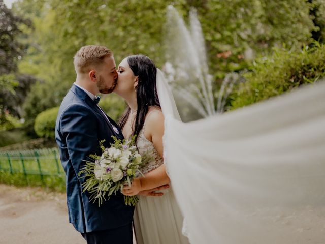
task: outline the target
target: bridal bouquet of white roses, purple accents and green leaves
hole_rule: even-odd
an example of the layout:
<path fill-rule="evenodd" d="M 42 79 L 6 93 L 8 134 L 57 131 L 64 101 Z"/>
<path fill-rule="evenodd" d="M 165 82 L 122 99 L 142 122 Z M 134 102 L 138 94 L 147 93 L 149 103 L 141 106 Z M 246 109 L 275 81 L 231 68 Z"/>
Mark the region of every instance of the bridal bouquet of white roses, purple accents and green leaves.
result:
<path fill-rule="evenodd" d="M 116 194 L 125 184 L 131 185 L 137 172 L 142 174 L 139 167 L 143 159 L 135 146 L 136 136 L 129 141 L 112 137 L 114 143 L 111 143 L 110 148 L 103 146 L 105 140 L 100 141 L 102 156 L 90 155 L 95 162 L 85 161 L 85 167 L 78 174 L 84 174 L 81 178 L 87 177 L 82 184 L 83 192 L 88 191 L 91 194 L 90 200 L 97 200 L 99 206 L 103 200 L 106 201 L 105 196 Z M 138 201 L 138 196 L 124 196 L 126 205 L 135 206 Z"/>

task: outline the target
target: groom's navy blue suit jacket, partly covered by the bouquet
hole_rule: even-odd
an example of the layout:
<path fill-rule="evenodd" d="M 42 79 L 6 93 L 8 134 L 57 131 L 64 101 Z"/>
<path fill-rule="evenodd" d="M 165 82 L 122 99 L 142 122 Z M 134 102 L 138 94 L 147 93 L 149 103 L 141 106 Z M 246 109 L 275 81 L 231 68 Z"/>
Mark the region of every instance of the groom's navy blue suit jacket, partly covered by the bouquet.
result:
<path fill-rule="evenodd" d="M 107 116 L 111 123 L 115 122 Z M 134 207 L 124 204 L 119 192 L 98 203 L 89 201 L 89 194 L 82 193 L 84 178 L 78 172 L 90 160 L 90 154 L 101 155 L 99 142 L 106 140 L 105 147 L 113 143 L 112 135 L 123 138 L 122 132 L 116 134 L 104 114 L 91 98 L 79 87 L 73 85 L 64 97 L 56 119 L 55 139 L 60 151 L 60 159 L 66 172 L 67 203 L 69 221 L 77 231 L 85 233 L 121 227 L 132 222 Z"/>

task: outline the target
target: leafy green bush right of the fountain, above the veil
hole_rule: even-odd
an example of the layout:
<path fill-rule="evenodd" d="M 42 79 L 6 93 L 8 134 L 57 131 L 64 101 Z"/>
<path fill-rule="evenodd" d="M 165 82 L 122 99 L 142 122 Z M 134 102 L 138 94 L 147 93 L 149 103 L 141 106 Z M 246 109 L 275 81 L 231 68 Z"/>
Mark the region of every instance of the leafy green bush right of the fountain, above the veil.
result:
<path fill-rule="evenodd" d="M 299 52 L 275 50 L 273 55 L 254 62 L 252 71 L 244 77 L 246 82 L 240 83 L 231 96 L 230 109 L 266 100 L 325 77 L 325 45 L 315 43 Z"/>

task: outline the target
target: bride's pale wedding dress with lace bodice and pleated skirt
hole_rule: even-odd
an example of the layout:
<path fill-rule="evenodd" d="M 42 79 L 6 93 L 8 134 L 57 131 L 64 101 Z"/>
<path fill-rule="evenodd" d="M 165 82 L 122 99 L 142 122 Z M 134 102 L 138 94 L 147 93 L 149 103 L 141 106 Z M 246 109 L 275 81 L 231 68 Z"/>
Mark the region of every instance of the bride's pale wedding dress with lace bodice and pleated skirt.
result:
<path fill-rule="evenodd" d="M 154 112 L 154 111 L 153 111 Z M 149 115 L 149 114 L 148 114 Z M 151 160 L 140 170 L 143 174 L 164 163 L 151 141 L 144 136 L 145 123 L 137 138 L 139 153 Z M 137 244 L 186 244 L 182 235 L 183 217 L 171 188 L 161 197 L 140 196 L 134 214 Z"/>

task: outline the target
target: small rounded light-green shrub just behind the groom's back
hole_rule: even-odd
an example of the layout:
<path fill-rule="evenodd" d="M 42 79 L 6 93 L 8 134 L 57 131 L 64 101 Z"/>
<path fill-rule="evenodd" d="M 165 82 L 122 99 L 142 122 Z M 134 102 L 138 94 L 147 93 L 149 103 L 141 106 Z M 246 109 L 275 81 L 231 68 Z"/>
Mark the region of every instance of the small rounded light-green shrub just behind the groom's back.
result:
<path fill-rule="evenodd" d="M 55 138 L 55 122 L 59 107 L 50 108 L 37 115 L 34 130 L 39 137 Z"/>

